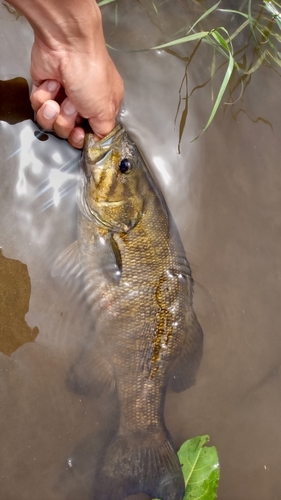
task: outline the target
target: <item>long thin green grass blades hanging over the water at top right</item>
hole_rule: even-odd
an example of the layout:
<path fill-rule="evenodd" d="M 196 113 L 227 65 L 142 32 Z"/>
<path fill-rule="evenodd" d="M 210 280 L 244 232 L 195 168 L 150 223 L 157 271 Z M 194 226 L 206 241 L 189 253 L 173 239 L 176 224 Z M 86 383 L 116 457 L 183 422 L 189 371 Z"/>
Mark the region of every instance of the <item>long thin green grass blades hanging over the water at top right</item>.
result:
<path fill-rule="evenodd" d="M 238 74 L 238 79 L 241 84 L 241 92 L 239 98 L 243 94 L 243 81 L 245 76 L 248 76 L 262 65 L 263 62 L 267 63 L 275 63 L 279 67 L 281 66 L 281 52 L 278 50 L 278 44 L 281 42 L 281 5 L 275 0 L 269 1 L 264 0 L 261 11 L 258 12 L 258 16 L 254 17 L 252 13 L 252 1 L 248 0 L 247 2 L 247 12 L 242 12 L 240 10 L 234 9 L 222 9 L 219 8 L 221 1 L 217 2 L 213 7 L 208 9 L 203 15 L 201 15 L 198 20 L 191 26 L 188 30 L 186 36 L 177 38 L 175 40 L 171 40 L 170 42 L 166 42 L 164 44 L 158 45 L 156 47 L 152 47 L 152 49 L 168 49 L 170 47 L 174 47 L 176 45 L 184 44 L 187 42 L 192 42 L 196 40 L 200 40 L 202 42 L 208 43 L 211 45 L 215 51 L 218 51 L 222 54 L 226 59 L 226 70 L 223 75 L 223 78 L 220 83 L 220 87 L 217 93 L 217 96 L 213 98 L 213 105 L 211 109 L 210 116 L 206 122 L 206 125 L 203 127 L 201 133 L 195 137 L 196 140 L 200 135 L 205 132 L 208 127 L 211 125 L 219 106 L 222 104 L 223 97 L 225 92 L 229 86 L 231 77 L 233 73 L 236 71 Z M 280 10 L 278 10 L 280 9 Z M 210 14 L 212 14 L 215 10 L 218 10 L 220 13 L 238 15 L 241 17 L 242 22 L 236 28 L 236 30 L 230 35 L 228 30 L 224 26 L 216 27 L 211 29 L 210 31 L 199 31 L 194 33 L 195 28 L 206 19 Z M 267 16 L 266 12 L 272 14 L 272 16 Z M 278 28 L 278 31 L 274 31 L 274 27 Z M 251 37 L 255 41 L 255 48 L 259 53 L 258 58 L 255 61 L 251 61 L 248 67 L 243 67 L 240 63 L 241 52 L 246 52 L 249 46 L 249 40 L 245 47 L 235 52 L 233 48 L 233 42 L 236 37 L 246 28 L 250 29 Z M 210 75 L 212 79 L 214 76 Z M 191 92 L 192 93 L 192 92 Z M 230 96 L 232 95 L 232 91 L 230 90 Z M 239 99 L 238 98 L 238 99 Z M 184 109 L 181 114 L 180 124 L 179 124 L 179 151 L 180 151 L 180 142 L 183 135 L 183 126 L 185 126 L 186 118 L 187 118 L 187 110 L 188 110 L 188 95 L 186 94 L 183 98 L 184 100 Z M 229 102 L 224 103 L 229 104 Z M 176 117 L 179 114 L 179 107 L 177 109 Z"/>

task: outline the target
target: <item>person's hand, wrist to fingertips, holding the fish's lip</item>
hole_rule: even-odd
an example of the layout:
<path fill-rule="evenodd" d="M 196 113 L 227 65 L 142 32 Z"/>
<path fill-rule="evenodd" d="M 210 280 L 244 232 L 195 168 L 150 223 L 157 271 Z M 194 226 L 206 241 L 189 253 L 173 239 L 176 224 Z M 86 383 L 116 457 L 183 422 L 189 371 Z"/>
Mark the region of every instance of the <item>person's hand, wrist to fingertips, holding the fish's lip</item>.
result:
<path fill-rule="evenodd" d="M 75 148 L 83 147 L 85 136 L 77 126 L 80 117 L 89 120 L 99 139 L 114 128 L 123 82 L 107 51 L 98 58 L 75 52 L 50 53 L 35 39 L 31 75 L 31 105 L 43 128 L 53 129 Z M 55 99 L 61 85 L 67 97 L 58 104 Z"/>

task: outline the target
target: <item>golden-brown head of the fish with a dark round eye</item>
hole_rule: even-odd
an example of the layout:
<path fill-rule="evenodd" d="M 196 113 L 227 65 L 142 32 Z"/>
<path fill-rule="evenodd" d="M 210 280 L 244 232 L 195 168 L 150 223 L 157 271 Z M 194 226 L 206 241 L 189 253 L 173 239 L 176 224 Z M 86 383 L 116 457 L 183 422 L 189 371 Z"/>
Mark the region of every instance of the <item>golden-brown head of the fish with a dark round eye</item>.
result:
<path fill-rule="evenodd" d="M 101 141 L 86 134 L 82 155 L 87 210 L 103 228 L 128 232 L 143 214 L 148 181 L 135 144 L 122 125 Z"/>

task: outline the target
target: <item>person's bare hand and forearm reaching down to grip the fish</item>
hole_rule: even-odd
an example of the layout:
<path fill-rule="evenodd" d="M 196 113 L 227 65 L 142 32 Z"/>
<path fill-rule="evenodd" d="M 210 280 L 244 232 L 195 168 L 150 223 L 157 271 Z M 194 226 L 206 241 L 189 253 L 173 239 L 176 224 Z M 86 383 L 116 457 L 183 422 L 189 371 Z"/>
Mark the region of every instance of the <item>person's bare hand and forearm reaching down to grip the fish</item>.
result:
<path fill-rule="evenodd" d="M 111 132 L 124 87 L 110 58 L 95 0 L 11 0 L 34 30 L 31 105 L 45 129 L 82 148 L 86 118 L 100 139 Z M 59 91 L 64 99 L 57 102 Z"/>

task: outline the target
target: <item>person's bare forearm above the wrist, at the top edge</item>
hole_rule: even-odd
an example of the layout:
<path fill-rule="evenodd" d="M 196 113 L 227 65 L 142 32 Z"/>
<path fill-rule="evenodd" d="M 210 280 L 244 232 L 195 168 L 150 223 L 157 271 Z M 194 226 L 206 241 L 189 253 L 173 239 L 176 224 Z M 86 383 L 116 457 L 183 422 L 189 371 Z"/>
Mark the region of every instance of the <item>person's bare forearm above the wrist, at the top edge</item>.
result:
<path fill-rule="evenodd" d="M 9 0 L 50 50 L 96 52 L 104 47 L 100 9 L 95 0 Z"/>

